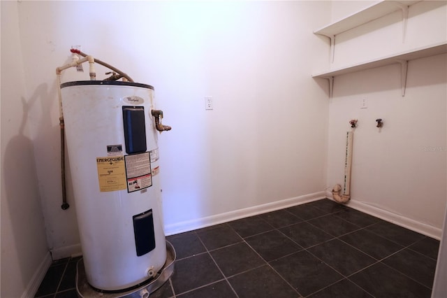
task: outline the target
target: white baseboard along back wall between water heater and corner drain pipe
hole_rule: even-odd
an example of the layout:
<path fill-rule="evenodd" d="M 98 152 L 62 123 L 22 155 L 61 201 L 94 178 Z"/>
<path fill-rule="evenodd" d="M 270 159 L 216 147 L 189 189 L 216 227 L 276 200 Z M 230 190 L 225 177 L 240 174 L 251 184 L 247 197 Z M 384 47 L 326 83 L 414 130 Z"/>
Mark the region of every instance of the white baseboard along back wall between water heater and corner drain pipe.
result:
<path fill-rule="evenodd" d="M 166 236 L 179 234 L 182 232 L 189 232 L 193 229 L 200 229 L 203 227 L 210 227 L 212 225 L 219 225 L 223 222 L 229 222 L 231 220 L 238 220 L 240 218 L 247 218 L 249 216 L 276 211 L 291 206 L 305 204 L 309 201 L 316 201 L 317 199 L 323 199 L 326 197 L 325 192 L 314 192 L 313 194 L 305 194 L 300 197 L 293 197 L 291 199 L 284 199 L 281 201 L 274 201 L 272 203 L 263 204 L 259 206 L 253 206 L 249 208 L 242 208 L 235 211 L 226 213 L 220 213 L 217 215 L 207 216 L 205 218 L 197 218 L 193 220 L 186 220 L 183 222 L 176 222 L 171 225 L 165 226 Z"/>

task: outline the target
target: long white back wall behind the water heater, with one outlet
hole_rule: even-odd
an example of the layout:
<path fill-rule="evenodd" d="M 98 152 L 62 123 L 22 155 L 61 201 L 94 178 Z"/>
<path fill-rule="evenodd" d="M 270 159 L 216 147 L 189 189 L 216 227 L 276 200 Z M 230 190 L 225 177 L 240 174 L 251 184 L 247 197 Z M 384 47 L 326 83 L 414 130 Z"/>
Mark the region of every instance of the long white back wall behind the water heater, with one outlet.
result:
<path fill-rule="evenodd" d="M 54 75 L 71 45 L 154 85 L 163 123 L 173 127 L 159 137 L 168 234 L 323 194 L 328 99 L 310 73 L 328 62 L 327 41 L 312 31 L 330 18 L 329 2 L 19 6 L 27 90 L 37 99 L 29 114 L 39 192 L 54 255 L 79 250 L 69 176 L 72 207 L 60 208 Z M 64 81 L 78 79 L 87 74 L 64 73 Z M 205 96 L 213 97 L 213 111 L 205 111 Z"/>

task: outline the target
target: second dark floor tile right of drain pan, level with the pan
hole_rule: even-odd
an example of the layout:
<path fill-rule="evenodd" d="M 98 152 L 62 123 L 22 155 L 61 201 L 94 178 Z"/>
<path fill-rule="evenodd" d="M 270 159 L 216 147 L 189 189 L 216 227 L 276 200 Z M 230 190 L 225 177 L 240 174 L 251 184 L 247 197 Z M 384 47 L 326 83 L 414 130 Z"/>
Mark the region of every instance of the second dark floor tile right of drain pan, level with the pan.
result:
<path fill-rule="evenodd" d="M 213 250 L 211 255 L 227 277 L 265 264 L 265 261 L 247 243 L 219 248 Z"/>

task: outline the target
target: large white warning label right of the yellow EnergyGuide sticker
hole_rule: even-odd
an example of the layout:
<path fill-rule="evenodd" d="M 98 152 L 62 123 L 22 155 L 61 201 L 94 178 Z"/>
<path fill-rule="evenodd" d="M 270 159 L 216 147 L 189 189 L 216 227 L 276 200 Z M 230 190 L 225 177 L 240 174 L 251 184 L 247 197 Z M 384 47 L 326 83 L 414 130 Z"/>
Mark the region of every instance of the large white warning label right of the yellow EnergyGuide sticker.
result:
<path fill-rule="evenodd" d="M 152 186 L 151 158 L 149 152 L 126 155 L 127 192 L 136 192 Z"/>

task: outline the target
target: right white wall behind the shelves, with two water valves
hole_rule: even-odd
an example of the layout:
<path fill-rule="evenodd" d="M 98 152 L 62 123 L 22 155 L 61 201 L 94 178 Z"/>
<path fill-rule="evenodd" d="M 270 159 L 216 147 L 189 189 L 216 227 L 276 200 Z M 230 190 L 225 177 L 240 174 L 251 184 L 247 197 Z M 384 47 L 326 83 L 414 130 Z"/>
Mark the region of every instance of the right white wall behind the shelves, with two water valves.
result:
<path fill-rule="evenodd" d="M 333 66 L 446 41 L 446 15 L 445 1 L 410 6 L 404 43 L 401 12 L 339 34 Z M 437 238 L 447 197 L 446 72 L 446 55 L 411 60 L 405 97 L 400 64 L 337 76 L 329 109 L 328 185 L 343 182 L 345 134 L 356 118 L 350 204 Z"/>

